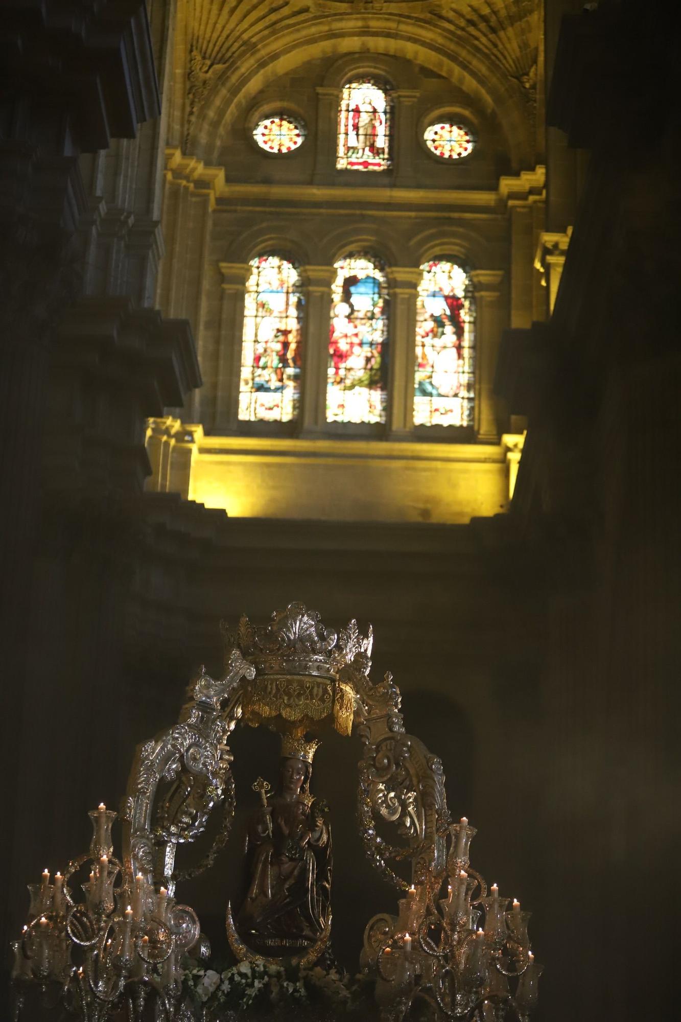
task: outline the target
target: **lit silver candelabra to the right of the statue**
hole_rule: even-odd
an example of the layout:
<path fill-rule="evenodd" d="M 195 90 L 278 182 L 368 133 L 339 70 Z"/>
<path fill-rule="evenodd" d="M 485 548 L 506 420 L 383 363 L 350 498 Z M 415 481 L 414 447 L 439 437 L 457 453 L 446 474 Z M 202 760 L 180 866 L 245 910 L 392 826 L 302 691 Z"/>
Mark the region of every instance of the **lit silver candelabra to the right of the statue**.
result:
<path fill-rule="evenodd" d="M 465 817 L 449 831 L 447 896 L 439 896 L 442 879 L 421 871 L 398 901 L 399 916 L 369 924 L 367 964 L 377 972 L 381 1020 L 397 1022 L 420 1000 L 436 1018 L 527 1022 L 542 972 L 530 949 L 531 913 L 515 898 L 508 909 L 510 899 L 496 884 L 488 891 L 471 868 L 475 828 Z"/>

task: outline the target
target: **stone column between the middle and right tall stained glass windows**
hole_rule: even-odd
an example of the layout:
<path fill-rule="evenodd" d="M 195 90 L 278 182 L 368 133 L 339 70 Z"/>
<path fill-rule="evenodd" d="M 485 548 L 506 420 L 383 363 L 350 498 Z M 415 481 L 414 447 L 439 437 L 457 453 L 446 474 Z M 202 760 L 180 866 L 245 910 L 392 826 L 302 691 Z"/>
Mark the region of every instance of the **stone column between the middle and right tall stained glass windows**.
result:
<path fill-rule="evenodd" d="M 416 289 L 421 271 L 391 267 L 388 437 L 409 439 L 414 423 L 414 365 L 416 359 Z"/>

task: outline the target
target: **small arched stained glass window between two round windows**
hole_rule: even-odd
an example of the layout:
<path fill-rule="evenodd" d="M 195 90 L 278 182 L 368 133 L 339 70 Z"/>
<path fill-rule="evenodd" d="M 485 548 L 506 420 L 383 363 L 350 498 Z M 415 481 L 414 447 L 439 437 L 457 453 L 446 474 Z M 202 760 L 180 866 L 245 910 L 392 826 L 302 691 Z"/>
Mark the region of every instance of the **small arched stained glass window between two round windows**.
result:
<path fill-rule="evenodd" d="M 384 171 L 391 166 L 392 104 L 384 84 L 349 82 L 338 108 L 337 170 Z"/>

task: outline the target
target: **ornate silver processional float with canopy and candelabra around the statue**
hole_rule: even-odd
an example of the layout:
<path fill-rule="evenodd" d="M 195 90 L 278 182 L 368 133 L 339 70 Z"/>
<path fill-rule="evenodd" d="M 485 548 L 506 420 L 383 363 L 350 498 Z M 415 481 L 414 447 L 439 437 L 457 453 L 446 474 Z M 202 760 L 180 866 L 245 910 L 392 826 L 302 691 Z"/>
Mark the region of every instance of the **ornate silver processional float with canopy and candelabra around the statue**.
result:
<path fill-rule="evenodd" d="M 355 734 L 364 849 L 402 895 L 397 913 L 368 921 L 360 956 L 381 1022 L 401 1022 L 417 1003 L 434 1020 L 526 1022 L 541 972 L 530 913 L 517 901 L 509 908 L 470 866 L 475 829 L 465 818 L 451 822 L 442 761 L 405 732 L 391 673 L 370 678 L 371 630 L 363 637 L 353 620 L 336 633 L 291 603 L 267 625 L 242 617 L 223 632 L 224 676 L 201 669 L 178 723 L 136 751 L 121 857 L 117 814 L 100 805 L 90 812 L 89 852 L 52 882 L 45 871 L 29 885 L 28 921 L 12 945 L 15 1018 L 39 991 L 43 1005 L 83 1022 L 191 1022 L 182 958 L 210 948 L 176 891 L 214 865 L 229 837 L 235 791 L 226 743 L 240 722 L 279 733 L 282 766 L 269 794 L 267 782 L 254 785 L 263 804 L 249 824 L 251 883 L 236 914 L 227 907 L 237 961 L 304 967 L 328 955 L 330 828 L 327 806 L 310 794 L 312 757 L 325 732 Z M 177 868 L 178 845 L 202 834 L 214 811 L 221 820 L 212 847 Z"/>

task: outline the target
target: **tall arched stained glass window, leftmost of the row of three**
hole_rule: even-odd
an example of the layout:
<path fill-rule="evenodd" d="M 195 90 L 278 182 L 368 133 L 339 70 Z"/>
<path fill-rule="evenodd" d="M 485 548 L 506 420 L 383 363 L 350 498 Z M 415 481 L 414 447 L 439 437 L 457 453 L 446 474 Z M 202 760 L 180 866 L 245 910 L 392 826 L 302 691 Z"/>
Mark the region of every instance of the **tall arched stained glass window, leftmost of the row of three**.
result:
<path fill-rule="evenodd" d="M 280 256 L 251 261 L 245 287 L 239 419 L 289 422 L 301 397 L 300 277 Z"/>

